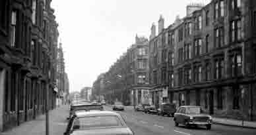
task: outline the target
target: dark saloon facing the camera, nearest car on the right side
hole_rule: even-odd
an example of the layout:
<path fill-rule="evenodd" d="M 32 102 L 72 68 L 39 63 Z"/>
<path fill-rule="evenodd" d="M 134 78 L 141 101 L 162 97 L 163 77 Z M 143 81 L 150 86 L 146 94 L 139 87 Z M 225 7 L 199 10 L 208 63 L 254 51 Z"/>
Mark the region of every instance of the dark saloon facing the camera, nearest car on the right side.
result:
<path fill-rule="evenodd" d="M 203 114 L 200 106 L 181 106 L 174 113 L 174 123 L 176 126 L 179 124 L 185 126 L 207 126 L 207 129 L 210 130 L 212 117 Z"/>

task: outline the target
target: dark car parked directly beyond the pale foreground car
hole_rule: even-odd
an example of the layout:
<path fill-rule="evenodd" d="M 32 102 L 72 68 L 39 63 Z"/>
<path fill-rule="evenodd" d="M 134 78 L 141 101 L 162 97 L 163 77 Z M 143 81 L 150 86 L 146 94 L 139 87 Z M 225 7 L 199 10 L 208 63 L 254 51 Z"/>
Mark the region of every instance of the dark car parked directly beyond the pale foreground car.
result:
<path fill-rule="evenodd" d="M 70 107 L 69 117 L 67 119 L 71 118 L 76 111 L 94 111 L 94 110 L 102 111 L 104 110 L 104 108 L 101 104 L 73 104 Z"/>

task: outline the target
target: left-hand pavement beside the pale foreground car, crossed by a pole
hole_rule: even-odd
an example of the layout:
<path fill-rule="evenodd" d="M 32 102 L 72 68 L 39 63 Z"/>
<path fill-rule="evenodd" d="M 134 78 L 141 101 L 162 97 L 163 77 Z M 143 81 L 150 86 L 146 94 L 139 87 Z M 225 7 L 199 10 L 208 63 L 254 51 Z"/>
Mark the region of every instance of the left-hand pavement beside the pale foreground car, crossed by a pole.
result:
<path fill-rule="evenodd" d="M 49 135 L 61 135 L 67 127 L 67 115 L 69 114 L 69 106 L 63 105 L 49 111 Z M 1 135 L 45 135 L 46 134 L 46 117 L 38 116 L 33 121 L 22 123 Z"/>

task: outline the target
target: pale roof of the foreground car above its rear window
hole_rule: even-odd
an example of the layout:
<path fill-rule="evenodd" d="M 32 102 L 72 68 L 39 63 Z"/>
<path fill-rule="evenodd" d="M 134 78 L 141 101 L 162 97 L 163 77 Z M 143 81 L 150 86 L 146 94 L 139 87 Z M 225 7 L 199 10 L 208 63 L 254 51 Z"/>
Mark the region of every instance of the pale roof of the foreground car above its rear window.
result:
<path fill-rule="evenodd" d="M 113 115 L 113 116 L 120 116 L 118 113 L 113 111 L 82 111 L 77 112 L 77 117 L 90 117 L 90 116 L 104 116 L 104 115 Z"/>

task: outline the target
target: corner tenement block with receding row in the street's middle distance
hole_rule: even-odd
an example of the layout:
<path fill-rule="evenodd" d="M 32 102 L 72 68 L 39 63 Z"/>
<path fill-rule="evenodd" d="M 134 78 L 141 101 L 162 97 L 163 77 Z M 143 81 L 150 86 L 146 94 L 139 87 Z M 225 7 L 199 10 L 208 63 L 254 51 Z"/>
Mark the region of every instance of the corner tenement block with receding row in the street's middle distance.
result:
<path fill-rule="evenodd" d="M 148 69 L 148 39 L 136 36 L 135 43 L 104 73 L 100 94 L 107 102 L 148 104 Z"/>

